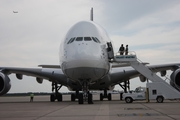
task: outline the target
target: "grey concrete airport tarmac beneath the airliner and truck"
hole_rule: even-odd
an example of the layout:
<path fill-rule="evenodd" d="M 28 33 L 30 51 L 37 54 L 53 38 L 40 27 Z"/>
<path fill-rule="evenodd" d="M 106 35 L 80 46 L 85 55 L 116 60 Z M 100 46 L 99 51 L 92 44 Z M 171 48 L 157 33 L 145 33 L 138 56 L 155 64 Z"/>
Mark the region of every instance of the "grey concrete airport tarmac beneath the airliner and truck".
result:
<path fill-rule="evenodd" d="M 99 101 L 93 95 L 94 104 L 71 102 L 70 95 L 63 95 L 63 102 L 49 102 L 49 96 L 35 96 L 34 102 L 26 97 L 0 97 L 0 120 L 180 120 L 180 101 L 164 103 L 134 101 L 131 104 L 119 100 Z"/>

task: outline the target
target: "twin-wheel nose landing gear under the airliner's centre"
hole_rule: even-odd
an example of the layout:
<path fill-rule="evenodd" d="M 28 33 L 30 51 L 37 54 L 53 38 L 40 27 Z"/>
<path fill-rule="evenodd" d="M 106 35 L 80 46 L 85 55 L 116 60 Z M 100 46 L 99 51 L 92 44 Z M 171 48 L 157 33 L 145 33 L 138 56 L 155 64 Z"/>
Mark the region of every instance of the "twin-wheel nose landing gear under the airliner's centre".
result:
<path fill-rule="evenodd" d="M 92 94 L 89 92 L 88 89 L 88 81 L 83 81 L 82 82 L 82 91 L 83 93 L 80 93 L 78 95 L 79 99 L 78 99 L 78 103 L 79 104 L 83 104 L 84 101 L 87 101 L 88 104 L 93 104 L 93 96 Z"/>

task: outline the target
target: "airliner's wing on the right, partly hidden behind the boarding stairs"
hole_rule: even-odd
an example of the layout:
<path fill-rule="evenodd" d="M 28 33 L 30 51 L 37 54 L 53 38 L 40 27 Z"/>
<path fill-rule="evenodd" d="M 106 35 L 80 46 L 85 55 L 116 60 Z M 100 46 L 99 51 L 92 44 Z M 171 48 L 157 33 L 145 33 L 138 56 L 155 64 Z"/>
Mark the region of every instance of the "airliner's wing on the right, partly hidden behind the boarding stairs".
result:
<path fill-rule="evenodd" d="M 180 63 L 147 65 L 147 67 L 155 73 L 163 72 L 166 70 L 175 71 L 176 69 L 180 68 Z M 132 67 L 114 67 L 114 68 L 112 68 L 112 71 L 110 73 L 112 85 L 116 85 L 123 81 L 130 80 L 130 79 L 138 77 L 140 75 L 141 74 Z"/>

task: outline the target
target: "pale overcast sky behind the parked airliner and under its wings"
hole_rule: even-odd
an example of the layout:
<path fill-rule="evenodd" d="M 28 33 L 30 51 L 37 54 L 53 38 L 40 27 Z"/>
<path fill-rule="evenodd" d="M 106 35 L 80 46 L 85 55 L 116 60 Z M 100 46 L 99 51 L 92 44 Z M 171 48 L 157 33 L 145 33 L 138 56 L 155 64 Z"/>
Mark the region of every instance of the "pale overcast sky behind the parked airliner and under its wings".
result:
<path fill-rule="evenodd" d="M 90 19 L 91 7 L 116 51 L 123 43 L 143 62 L 180 63 L 179 0 L 1 0 L 0 66 L 59 64 L 60 41 L 73 24 Z M 10 78 L 9 92 L 51 91 L 48 81 Z M 144 85 L 132 81 L 132 89 Z"/>

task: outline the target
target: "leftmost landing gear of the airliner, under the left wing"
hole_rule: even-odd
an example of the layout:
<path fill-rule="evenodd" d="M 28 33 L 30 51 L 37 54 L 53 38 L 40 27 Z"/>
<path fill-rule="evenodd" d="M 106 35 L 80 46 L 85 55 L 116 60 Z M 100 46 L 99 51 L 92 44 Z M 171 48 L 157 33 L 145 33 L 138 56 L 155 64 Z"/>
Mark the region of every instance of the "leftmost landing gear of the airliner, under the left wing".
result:
<path fill-rule="evenodd" d="M 58 92 L 61 89 L 61 87 L 62 85 L 58 85 L 57 83 L 52 82 L 52 92 L 54 92 L 55 90 L 55 93 L 52 93 L 50 95 L 51 102 L 54 102 L 56 99 L 57 101 L 62 101 L 62 94 Z"/>

